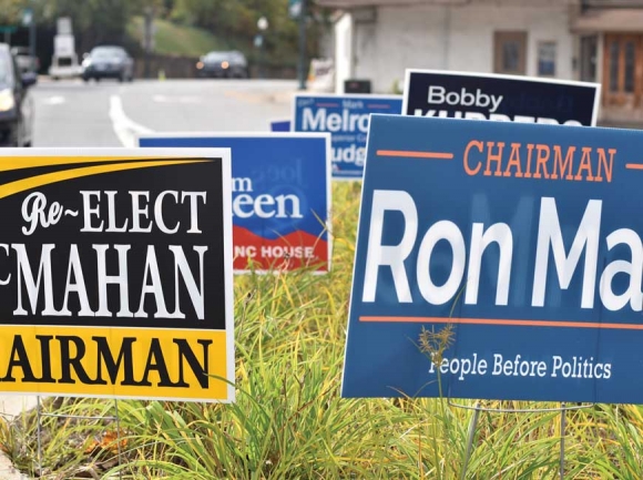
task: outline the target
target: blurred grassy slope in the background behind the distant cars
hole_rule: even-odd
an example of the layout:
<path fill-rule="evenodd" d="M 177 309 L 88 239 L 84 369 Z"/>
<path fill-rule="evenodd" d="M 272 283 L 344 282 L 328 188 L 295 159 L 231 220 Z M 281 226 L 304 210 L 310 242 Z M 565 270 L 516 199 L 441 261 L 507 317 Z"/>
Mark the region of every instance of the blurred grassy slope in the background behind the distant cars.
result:
<path fill-rule="evenodd" d="M 180 25 L 167 20 L 155 19 L 155 52 L 170 55 L 201 57 L 211 50 L 229 50 L 228 41 L 211 32 L 187 25 Z M 127 25 L 131 38 L 141 42 L 143 38 L 143 18 L 134 17 Z"/>

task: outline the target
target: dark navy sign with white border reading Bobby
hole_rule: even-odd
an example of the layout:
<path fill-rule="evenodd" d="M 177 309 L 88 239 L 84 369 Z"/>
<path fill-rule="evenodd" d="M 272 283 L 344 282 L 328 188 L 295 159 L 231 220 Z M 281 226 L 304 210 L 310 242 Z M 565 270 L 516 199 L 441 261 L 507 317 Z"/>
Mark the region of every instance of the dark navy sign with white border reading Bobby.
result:
<path fill-rule="evenodd" d="M 407 69 L 405 115 L 595 125 L 601 84 Z"/>

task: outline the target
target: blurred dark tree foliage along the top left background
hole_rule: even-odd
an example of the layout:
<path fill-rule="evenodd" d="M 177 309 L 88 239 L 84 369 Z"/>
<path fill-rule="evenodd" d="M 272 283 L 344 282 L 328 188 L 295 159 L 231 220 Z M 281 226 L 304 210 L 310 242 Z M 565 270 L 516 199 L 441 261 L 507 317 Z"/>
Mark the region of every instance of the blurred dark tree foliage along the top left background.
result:
<path fill-rule="evenodd" d="M 315 13 L 313 0 L 307 1 Z M 20 24 L 25 7 L 33 9 L 39 29 L 48 38 L 55 33 L 59 17 L 70 17 L 79 52 L 100 43 L 120 43 L 137 53 L 140 45 L 127 37 L 127 24 L 132 17 L 152 12 L 156 18 L 203 28 L 251 59 L 258 54 L 254 48 L 255 35 L 262 33 L 257 20 L 265 17 L 269 23 L 263 32 L 266 60 L 294 63 L 297 58 L 298 24 L 288 16 L 288 0 L 0 0 L 0 24 Z M 309 55 L 316 51 L 319 33 L 313 18 L 308 19 Z"/>

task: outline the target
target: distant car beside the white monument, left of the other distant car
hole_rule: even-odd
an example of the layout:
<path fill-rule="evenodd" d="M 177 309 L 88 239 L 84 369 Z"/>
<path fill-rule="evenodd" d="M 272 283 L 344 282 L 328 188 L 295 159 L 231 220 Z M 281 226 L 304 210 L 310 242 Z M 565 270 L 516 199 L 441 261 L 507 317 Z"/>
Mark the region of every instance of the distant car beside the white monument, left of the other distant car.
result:
<path fill-rule="evenodd" d="M 125 49 L 115 45 L 94 47 L 82 62 L 82 79 L 118 79 L 121 82 L 134 80 L 134 60 Z"/>

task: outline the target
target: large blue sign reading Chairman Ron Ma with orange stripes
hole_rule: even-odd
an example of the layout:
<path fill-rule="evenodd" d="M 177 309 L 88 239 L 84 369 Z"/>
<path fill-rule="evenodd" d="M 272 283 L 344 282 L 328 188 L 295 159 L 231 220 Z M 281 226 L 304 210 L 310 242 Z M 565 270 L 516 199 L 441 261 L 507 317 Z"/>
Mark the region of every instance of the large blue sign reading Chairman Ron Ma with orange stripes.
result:
<path fill-rule="evenodd" d="M 641 152 L 374 115 L 341 395 L 643 402 Z"/>

